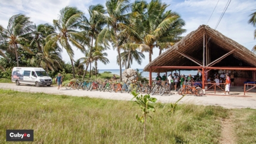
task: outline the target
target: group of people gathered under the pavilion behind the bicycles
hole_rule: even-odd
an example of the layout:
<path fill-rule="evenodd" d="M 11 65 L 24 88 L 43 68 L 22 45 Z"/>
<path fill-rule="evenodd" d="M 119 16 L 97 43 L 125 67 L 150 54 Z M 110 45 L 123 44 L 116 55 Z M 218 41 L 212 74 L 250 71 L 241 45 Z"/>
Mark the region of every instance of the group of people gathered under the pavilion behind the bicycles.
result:
<path fill-rule="evenodd" d="M 155 78 L 156 81 L 167 81 L 168 84 L 170 85 L 170 89 L 173 89 L 174 87 L 174 91 L 177 91 L 177 88 L 182 87 L 184 82 L 193 82 L 194 78 L 189 75 L 189 76 L 185 76 L 185 75 L 178 75 L 178 73 L 173 73 L 173 75 L 170 73 L 170 75 L 168 75 L 168 77 L 166 76 L 166 74 L 164 74 L 163 76 L 160 76 L 159 74 L 157 75 L 157 78 Z M 161 84 L 161 83 L 157 83 L 157 84 Z"/>

